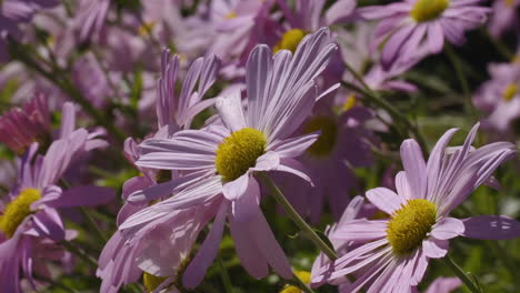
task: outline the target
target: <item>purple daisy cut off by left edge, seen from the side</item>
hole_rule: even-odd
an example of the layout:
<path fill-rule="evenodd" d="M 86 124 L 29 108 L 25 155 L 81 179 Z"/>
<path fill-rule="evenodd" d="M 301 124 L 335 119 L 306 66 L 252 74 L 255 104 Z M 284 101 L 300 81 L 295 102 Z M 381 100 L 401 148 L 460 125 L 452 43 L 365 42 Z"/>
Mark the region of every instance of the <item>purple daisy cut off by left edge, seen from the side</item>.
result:
<path fill-rule="evenodd" d="M 30 145 L 18 161 L 18 179 L 0 215 L 0 281 L 6 292 L 20 292 L 20 272 L 36 289 L 33 272 L 51 277 L 44 259 L 57 260 L 52 253 L 57 242 L 73 238 L 66 231 L 59 209 L 104 204 L 113 191 L 93 185 L 62 190 L 58 181 L 68 169 L 92 149 L 106 145 L 100 133 L 73 130 L 73 105 L 63 105 L 61 139 L 38 155 L 38 143 Z M 48 253 L 47 253 L 48 252 Z M 50 257 L 47 257 L 50 256 Z"/>

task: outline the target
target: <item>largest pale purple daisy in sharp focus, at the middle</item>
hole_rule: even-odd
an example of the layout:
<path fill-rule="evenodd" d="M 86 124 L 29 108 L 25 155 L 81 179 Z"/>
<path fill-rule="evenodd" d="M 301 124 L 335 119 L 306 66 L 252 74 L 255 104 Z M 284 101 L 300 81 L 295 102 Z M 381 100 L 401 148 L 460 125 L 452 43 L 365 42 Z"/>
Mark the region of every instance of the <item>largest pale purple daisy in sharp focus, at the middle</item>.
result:
<path fill-rule="evenodd" d="M 144 271 L 171 276 L 171 262 L 164 263 L 163 255 L 169 255 L 166 251 L 170 247 L 187 243 L 177 242 L 179 231 L 171 228 L 184 226 L 183 233 L 197 235 L 214 219 L 198 253 L 182 267 L 183 285 L 196 286 L 217 255 L 228 215 L 237 253 L 249 274 L 264 277 L 269 264 L 281 276 L 292 276 L 289 261 L 260 211 L 260 186 L 253 172 L 292 172 L 310 181 L 292 158 L 311 145 L 318 134 L 290 135 L 312 111 L 319 98 L 313 79 L 334 50 L 324 28 L 306 37 L 294 55 L 282 50 L 273 57 L 267 46 L 257 46 L 247 63 L 247 111 L 237 91 L 217 100 L 221 125 L 182 130 L 171 139 L 150 139 L 139 145 L 141 155 L 137 165 L 186 172 L 182 179 L 191 182 L 174 196 L 136 213 L 120 226 L 130 241 L 159 223 L 164 223 L 161 225 L 164 230 L 170 229 L 170 245 L 149 250 L 142 257 Z M 176 184 L 172 181 L 158 184 L 131 194 L 129 201 L 166 196 Z"/>

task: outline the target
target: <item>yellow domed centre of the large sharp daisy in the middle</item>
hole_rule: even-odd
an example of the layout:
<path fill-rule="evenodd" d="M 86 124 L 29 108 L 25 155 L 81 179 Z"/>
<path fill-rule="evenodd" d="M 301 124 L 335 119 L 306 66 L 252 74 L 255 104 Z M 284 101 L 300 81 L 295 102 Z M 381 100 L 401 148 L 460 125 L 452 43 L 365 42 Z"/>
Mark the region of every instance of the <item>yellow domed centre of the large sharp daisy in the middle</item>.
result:
<path fill-rule="evenodd" d="M 238 179 L 256 165 L 257 159 L 266 152 L 266 135 L 259 130 L 243 128 L 231 133 L 217 149 L 217 172 L 226 182 Z"/>

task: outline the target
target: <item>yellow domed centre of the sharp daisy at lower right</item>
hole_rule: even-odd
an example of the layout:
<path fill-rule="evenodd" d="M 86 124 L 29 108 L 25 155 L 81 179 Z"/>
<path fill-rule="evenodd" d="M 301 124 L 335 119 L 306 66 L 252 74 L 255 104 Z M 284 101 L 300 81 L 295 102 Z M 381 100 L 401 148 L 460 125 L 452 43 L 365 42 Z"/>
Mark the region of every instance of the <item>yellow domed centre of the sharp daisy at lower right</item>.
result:
<path fill-rule="evenodd" d="M 393 212 L 387 225 L 387 239 L 398 255 L 419 247 L 437 220 L 437 208 L 430 201 L 409 200 Z"/>

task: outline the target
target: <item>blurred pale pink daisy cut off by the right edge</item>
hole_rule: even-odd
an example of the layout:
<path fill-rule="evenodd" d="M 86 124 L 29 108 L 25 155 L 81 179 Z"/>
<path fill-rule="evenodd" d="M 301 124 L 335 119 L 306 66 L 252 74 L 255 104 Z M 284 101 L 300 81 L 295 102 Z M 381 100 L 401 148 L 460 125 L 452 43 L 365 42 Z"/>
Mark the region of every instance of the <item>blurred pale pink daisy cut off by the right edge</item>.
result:
<path fill-rule="evenodd" d="M 504 133 L 511 122 L 520 117 L 520 64 L 489 64 L 491 80 L 483 83 L 473 97 L 473 103 L 489 113 L 482 121 L 486 127 Z"/>

